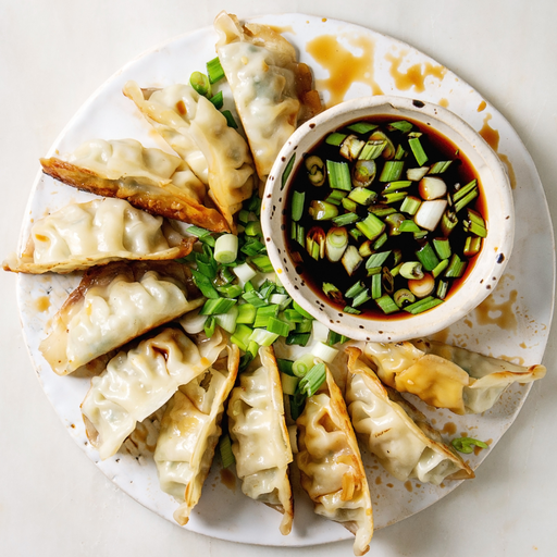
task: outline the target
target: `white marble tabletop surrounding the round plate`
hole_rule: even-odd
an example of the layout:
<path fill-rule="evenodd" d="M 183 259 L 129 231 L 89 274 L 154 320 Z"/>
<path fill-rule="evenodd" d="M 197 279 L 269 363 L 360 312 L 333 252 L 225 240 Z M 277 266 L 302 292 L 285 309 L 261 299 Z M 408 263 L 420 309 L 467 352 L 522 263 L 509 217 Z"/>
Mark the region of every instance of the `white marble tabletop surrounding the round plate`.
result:
<path fill-rule="evenodd" d="M 37 159 L 87 97 L 144 50 L 239 15 L 306 12 L 392 35 L 469 82 L 509 120 L 537 165 L 557 215 L 555 54 L 550 0 L 194 2 L 0 0 L 1 250 L 15 248 Z M 21 336 L 15 276 L 0 273 L 0 541 L 2 555 L 255 556 L 166 522 L 122 493 L 61 426 L 34 376 Z M 535 287 L 535 276 L 532 277 Z M 478 471 L 443 500 L 379 531 L 370 555 L 555 556 L 556 333 L 519 418 Z M 267 548 L 265 555 L 351 555 L 351 542 Z"/>

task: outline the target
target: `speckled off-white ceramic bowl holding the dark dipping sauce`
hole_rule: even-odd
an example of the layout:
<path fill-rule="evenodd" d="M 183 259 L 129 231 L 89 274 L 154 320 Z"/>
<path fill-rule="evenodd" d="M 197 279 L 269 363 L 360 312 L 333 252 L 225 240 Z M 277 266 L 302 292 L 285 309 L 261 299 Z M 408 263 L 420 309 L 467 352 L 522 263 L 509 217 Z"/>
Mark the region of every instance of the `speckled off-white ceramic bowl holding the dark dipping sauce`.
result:
<path fill-rule="evenodd" d="M 338 310 L 315 295 L 296 271 L 285 236 L 287 193 L 296 170 L 323 137 L 358 120 L 391 115 L 431 126 L 466 154 L 483 189 L 487 237 L 468 276 L 440 306 L 417 315 L 369 318 Z M 504 166 L 485 140 L 453 112 L 401 97 L 364 97 L 343 102 L 302 124 L 281 150 L 267 182 L 261 222 L 269 257 L 290 296 L 323 324 L 349 338 L 398 342 L 433 334 L 474 309 L 497 284 L 512 249 L 512 191 Z M 344 272 L 344 269 L 341 270 Z M 329 277 L 334 283 L 334 277 Z"/>

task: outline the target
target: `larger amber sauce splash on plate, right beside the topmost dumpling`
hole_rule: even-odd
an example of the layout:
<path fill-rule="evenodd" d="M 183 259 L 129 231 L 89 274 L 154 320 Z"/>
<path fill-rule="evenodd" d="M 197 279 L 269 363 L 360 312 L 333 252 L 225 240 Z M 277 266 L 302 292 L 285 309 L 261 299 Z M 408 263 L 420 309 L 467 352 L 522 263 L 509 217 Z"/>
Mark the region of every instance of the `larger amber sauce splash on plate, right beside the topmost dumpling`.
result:
<path fill-rule="evenodd" d="M 361 50 L 361 54 L 354 54 L 339 38 L 345 38 L 352 49 Z M 331 96 L 326 108 L 342 102 L 354 83 L 369 85 L 372 95 L 383 95 L 374 79 L 374 50 L 373 39 L 366 36 L 320 35 L 308 42 L 306 51 L 329 71 L 326 79 L 315 81 L 315 88 L 326 90 Z"/>

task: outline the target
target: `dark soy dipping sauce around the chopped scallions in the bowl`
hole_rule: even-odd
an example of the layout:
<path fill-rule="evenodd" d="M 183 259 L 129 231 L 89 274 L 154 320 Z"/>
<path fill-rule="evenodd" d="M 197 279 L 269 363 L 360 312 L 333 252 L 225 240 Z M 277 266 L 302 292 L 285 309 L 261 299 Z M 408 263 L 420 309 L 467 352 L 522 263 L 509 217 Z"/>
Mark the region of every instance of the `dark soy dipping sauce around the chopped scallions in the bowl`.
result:
<path fill-rule="evenodd" d="M 396 145 L 401 144 L 403 147 L 407 150 L 407 156 L 405 157 L 405 166 L 403 175 L 399 180 L 407 180 L 406 178 L 406 170 L 407 169 L 414 169 L 419 168 L 420 165 L 416 161 L 416 158 L 411 151 L 411 149 L 408 147 L 408 140 L 405 138 L 405 134 L 400 132 L 388 132 L 386 131 L 386 124 L 389 124 L 392 122 L 397 121 L 406 121 L 410 122 L 413 125 L 412 132 L 421 132 L 423 135 L 420 137 L 421 145 L 423 147 L 423 150 L 428 154 L 428 162 L 425 162 L 426 165 L 431 165 L 438 161 L 447 161 L 451 160 L 454 161 L 450 166 L 442 174 L 435 174 L 435 176 L 441 177 L 447 185 L 447 191 L 448 194 L 453 194 L 455 191 L 455 184 L 460 184 L 461 186 L 465 186 L 469 182 L 471 182 L 473 178 L 478 180 L 478 187 L 479 187 L 479 196 L 475 198 L 474 201 L 469 203 L 467 207 L 470 209 L 473 209 L 474 211 L 479 212 L 483 219 L 486 222 L 487 227 L 487 212 L 485 209 L 485 202 L 484 202 L 484 196 L 482 193 L 482 185 L 480 183 L 480 180 L 476 175 L 476 173 L 473 171 L 473 168 L 462 152 L 458 150 L 458 148 L 441 135 L 438 132 L 432 129 L 431 126 L 422 123 L 418 123 L 411 119 L 408 117 L 396 117 L 392 115 L 386 116 L 373 116 L 370 119 L 358 119 L 354 122 L 349 122 L 346 124 L 346 126 L 356 123 L 356 122 L 369 122 L 372 124 L 377 124 L 381 127 L 381 131 L 385 132 L 387 136 L 393 140 L 393 143 Z M 352 134 L 354 132 L 350 132 L 349 129 L 346 129 L 346 126 L 341 127 L 337 129 L 339 133 L 345 134 Z M 364 134 L 359 135 L 356 134 L 361 139 L 367 139 L 369 135 L 371 134 Z M 339 147 L 331 146 L 325 143 L 325 138 L 323 138 L 319 144 L 317 144 L 308 153 L 305 153 L 305 159 L 311 154 L 317 154 L 320 157 L 323 162 L 326 160 L 333 160 L 338 162 L 346 162 L 347 159 L 345 159 L 339 153 Z M 383 166 L 383 159 L 380 157 L 376 162 L 377 164 L 377 174 L 375 176 L 375 180 L 369 186 L 369 189 L 373 189 L 377 194 L 381 193 L 381 190 L 386 185 L 385 183 L 379 182 L 379 175 L 381 172 L 381 168 Z M 350 168 L 354 163 L 350 163 Z M 420 197 L 418 194 L 418 184 L 419 182 L 413 183 L 409 188 L 406 188 L 405 190 L 408 191 L 409 196 Z M 354 186 L 352 186 L 354 187 Z M 330 262 L 326 257 L 324 259 L 320 259 L 319 261 L 315 261 L 312 259 L 308 252 L 306 251 L 306 248 L 302 248 L 296 240 L 293 240 L 290 238 L 290 208 L 292 208 L 292 196 L 293 193 L 297 191 L 305 191 L 306 198 L 305 198 L 305 210 L 301 219 L 298 221 L 300 225 L 305 227 L 306 234 L 312 226 L 321 226 L 325 234 L 326 232 L 333 227 L 336 226 L 332 221 L 314 221 L 310 214 L 309 214 L 309 206 L 312 200 L 325 200 L 329 194 L 332 191 L 332 189 L 329 187 L 327 180 L 322 186 L 314 186 L 312 185 L 308 180 L 308 172 L 306 170 L 306 166 L 302 161 L 298 164 L 295 175 L 288 186 L 287 191 L 287 202 L 286 202 L 286 211 L 283 216 L 283 230 L 285 231 L 285 238 L 286 238 L 286 245 L 288 247 L 290 257 L 293 253 L 297 252 L 301 256 L 302 261 L 300 263 L 296 263 L 296 272 L 301 276 L 301 278 L 306 282 L 306 284 L 311 288 L 311 290 L 315 294 L 317 298 L 325 300 L 327 304 L 332 304 L 333 306 L 337 307 L 338 311 L 343 311 L 345 306 L 350 305 L 350 300 L 345 297 L 346 304 L 334 304 L 322 290 L 322 285 L 324 282 L 334 284 L 343 294 L 350 288 L 355 283 L 358 281 L 362 281 L 366 285 L 366 287 L 371 289 L 371 277 L 368 277 L 367 275 L 367 269 L 366 269 L 366 260 L 360 264 L 359 269 L 350 276 L 346 272 L 343 263 L 341 261 L 338 262 Z M 398 208 L 400 203 L 395 203 L 394 207 Z M 338 207 L 339 211 L 338 214 L 343 214 L 345 211 L 342 207 L 342 205 Z M 367 208 L 359 207 L 358 208 L 358 214 L 363 219 L 367 214 Z M 451 295 L 455 294 L 455 292 L 458 290 L 460 284 L 466 281 L 467 276 L 469 275 L 471 269 L 473 268 L 473 264 L 479 257 L 479 253 L 476 256 L 473 256 L 471 258 L 467 258 L 462 255 L 462 250 L 465 247 L 466 237 L 470 235 L 469 233 L 466 233 L 462 230 L 461 221 L 463 220 L 463 214 L 466 214 L 466 209 L 460 211 L 458 213 L 459 223 L 457 226 L 450 233 L 449 242 L 450 242 L 450 248 L 453 253 L 457 253 L 462 260 L 468 261 L 468 265 L 466 268 L 465 274 L 459 278 L 451 278 L 449 284 L 448 294 L 445 297 L 445 300 L 448 299 Z M 405 214 L 407 219 L 412 219 L 411 215 Z M 382 219 L 383 220 L 383 219 Z M 354 227 L 354 224 L 347 225 L 347 230 L 350 230 Z M 440 231 L 440 226 L 434 232 L 430 232 L 421 242 L 430 242 L 432 243 L 433 238 L 443 237 L 443 234 Z M 366 237 L 361 237 L 359 242 L 356 242 L 350 235 L 348 236 L 348 244 L 354 245 L 358 247 Z M 393 250 L 393 249 L 400 249 L 403 252 L 403 261 L 417 261 L 418 258 L 416 257 L 416 250 L 420 247 L 417 240 L 414 240 L 413 235 L 411 233 L 403 233 L 399 236 L 389 236 L 386 244 L 384 244 L 382 247 L 380 247 L 376 251 L 386 251 L 386 250 Z M 481 252 L 481 251 L 480 251 Z M 294 259 L 296 261 L 296 259 Z M 391 253 L 389 258 L 385 261 L 384 265 L 392 268 L 393 267 L 393 253 Z M 408 288 L 408 281 L 400 275 L 394 277 L 394 289 L 393 292 L 396 292 L 399 288 Z M 435 290 L 432 293 L 432 296 L 435 296 Z M 417 298 L 418 301 L 418 298 Z M 443 305 L 438 306 L 442 307 Z M 375 319 L 375 320 L 400 320 L 400 319 L 408 319 L 411 318 L 412 314 L 408 313 L 404 310 L 397 311 L 395 313 L 385 314 L 374 302 L 374 300 L 370 299 L 362 306 L 359 306 L 357 308 L 361 311 L 361 314 L 359 317 L 364 317 L 368 319 Z"/>

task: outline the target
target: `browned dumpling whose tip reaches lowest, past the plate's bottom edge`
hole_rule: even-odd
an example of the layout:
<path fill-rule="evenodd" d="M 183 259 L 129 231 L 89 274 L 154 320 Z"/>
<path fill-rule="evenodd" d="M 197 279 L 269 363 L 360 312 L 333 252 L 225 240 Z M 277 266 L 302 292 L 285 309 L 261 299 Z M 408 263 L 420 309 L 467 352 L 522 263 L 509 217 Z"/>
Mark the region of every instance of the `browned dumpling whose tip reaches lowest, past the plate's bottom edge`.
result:
<path fill-rule="evenodd" d="M 370 490 L 345 401 L 329 369 L 296 424 L 301 486 L 318 515 L 356 535 L 354 554 L 363 555 L 373 535 Z"/>

